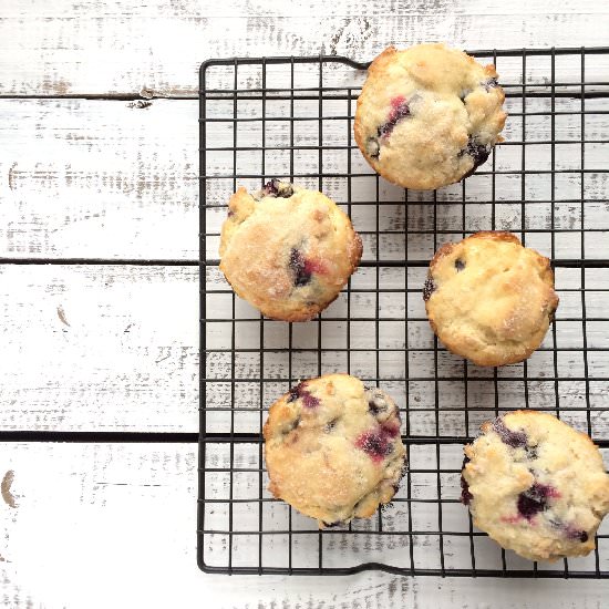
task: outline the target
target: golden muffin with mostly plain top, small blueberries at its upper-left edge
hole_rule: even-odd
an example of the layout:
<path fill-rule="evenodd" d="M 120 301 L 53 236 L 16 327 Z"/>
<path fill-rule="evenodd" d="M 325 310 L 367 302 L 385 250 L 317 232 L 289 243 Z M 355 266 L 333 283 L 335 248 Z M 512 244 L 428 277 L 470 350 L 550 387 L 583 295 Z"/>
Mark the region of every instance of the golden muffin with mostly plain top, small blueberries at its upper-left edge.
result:
<path fill-rule="evenodd" d="M 549 260 L 500 231 L 442 246 L 430 264 L 423 299 L 437 338 L 478 365 L 528 358 L 558 307 Z"/>

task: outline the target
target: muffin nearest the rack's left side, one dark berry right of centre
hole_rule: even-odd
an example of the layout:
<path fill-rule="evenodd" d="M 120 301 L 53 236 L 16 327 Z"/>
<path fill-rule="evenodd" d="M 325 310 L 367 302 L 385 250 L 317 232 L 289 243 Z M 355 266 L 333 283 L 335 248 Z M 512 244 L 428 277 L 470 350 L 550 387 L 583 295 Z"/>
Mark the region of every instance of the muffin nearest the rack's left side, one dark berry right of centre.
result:
<path fill-rule="evenodd" d="M 230 198 L 220 269 L 237 296 L 269 318 L 313 318 L 337 298 L 361 255 L 351 220 L 321 193 L 273 179 Z"/>

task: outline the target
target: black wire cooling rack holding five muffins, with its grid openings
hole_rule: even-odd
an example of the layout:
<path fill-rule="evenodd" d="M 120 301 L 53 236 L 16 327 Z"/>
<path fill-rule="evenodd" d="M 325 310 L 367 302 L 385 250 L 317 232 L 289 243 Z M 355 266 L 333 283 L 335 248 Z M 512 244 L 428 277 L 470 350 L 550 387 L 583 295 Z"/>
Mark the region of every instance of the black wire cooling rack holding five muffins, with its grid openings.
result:
<path fill-rule="evenodd" d="M 200 70 L 199 567 L 224 574 L 609 577 L 609 526 L 586 558 L 502 550 L 460 504 L 463 445 L 509 410 L 549 411 L 609 457 L 609 49 L 481 51 L 497 65 L 506 142 L 436 192 L 379 178 L 353 141 L 368 64 L 339 56 L 210 60 Z M 323 190 L 364 244 L 360 269 L 316 320 L 262 319 L 218 269 L 238 185 Z M 421 296 L 443 242 L 484 229 L 549 256 L 556 322 L 526 362 L 482 369 L 434 338 Z M 247 264 L 244 260 L 244 264 Z M 299 379 L 344 371 L 400 405 L 409 468 L 392 505 L 323 531 L 267 492 L 261 426 Z"/>

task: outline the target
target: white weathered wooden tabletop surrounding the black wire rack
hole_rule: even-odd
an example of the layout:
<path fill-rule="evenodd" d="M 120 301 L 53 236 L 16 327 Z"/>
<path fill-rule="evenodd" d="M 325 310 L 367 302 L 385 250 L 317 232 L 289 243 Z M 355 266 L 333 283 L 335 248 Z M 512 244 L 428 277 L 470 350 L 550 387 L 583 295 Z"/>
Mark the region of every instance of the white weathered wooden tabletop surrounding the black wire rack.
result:
<path fill-rule="evenodd" d="M 197 569 L 197 69 L 365 61 L 389 42 L 595 47 L 608 32 L 592 0 L 2 0 L 0 605 L 605 607 L 607 581 Z"/>

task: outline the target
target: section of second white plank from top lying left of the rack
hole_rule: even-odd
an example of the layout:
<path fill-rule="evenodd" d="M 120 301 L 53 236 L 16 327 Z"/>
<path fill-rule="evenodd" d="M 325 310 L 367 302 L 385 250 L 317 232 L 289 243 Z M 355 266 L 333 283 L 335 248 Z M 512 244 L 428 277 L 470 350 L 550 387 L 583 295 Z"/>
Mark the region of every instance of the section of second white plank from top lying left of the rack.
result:
<path fill-rule="evenodd" d="M 195 102 L 2 101 L 0 114 L 3 256 L 197 257 Z"/>

